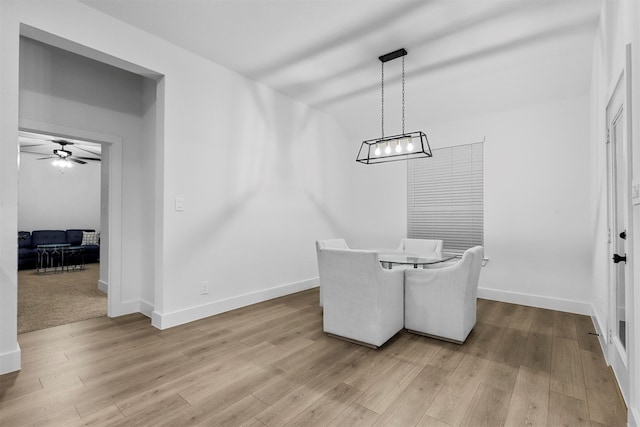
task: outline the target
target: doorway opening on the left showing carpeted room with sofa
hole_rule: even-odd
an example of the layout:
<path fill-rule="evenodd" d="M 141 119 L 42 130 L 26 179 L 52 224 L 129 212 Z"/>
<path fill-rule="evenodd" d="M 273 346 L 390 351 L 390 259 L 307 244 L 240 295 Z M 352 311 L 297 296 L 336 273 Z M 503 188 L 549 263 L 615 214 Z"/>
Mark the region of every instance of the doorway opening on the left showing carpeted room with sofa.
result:
<path fill-rule="evenodd" d="M 34 131 L 19 145 L 18 333 L 106 316 L 102 145 Z"/>

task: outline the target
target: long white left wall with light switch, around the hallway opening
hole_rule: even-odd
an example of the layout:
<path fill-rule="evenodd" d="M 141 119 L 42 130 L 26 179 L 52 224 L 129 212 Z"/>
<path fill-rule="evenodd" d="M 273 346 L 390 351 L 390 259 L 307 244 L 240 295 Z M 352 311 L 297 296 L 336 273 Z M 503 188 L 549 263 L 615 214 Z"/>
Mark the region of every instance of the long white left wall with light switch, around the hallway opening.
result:
<path fill-rule="evenodd" d="M 141 310 L 152 304 L 153 323 L 164 328 L 317 285 L 314 240 L 344 235 L 353 203 L 346 171 L 355 152 L 333 119 L 74 1 L 2 2 L 0 19 L 3 371 L 19 368 L 11 161 L 18 117 L 5 111 L 18 111 L 20 23 L 163 76 L 157 98 L 144 87 L 141 96 L 155 101 L 158 117 L 142 101 L 125 111 L 95 105 L 74 87 L 72 99 L 53 88 L 21 94 L 34 101 L 20 105 L 21 119 L 35 111 L 40 120 L 122 136 L 123 299 L 137 298 Z M 183 212 L 174 209 L 176 197 L 184 198 Z M 207 295 L 200 294 L 204 280 Z"/>

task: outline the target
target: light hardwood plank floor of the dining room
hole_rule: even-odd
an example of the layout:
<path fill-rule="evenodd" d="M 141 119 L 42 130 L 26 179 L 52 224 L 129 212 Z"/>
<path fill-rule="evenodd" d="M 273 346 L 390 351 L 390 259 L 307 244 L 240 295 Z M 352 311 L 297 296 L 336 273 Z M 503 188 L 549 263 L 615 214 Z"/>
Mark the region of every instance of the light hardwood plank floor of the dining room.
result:
<path fill-rule="evenodd" d="M 159 331 L 142 315 L 19 336 L 0 425 L 623 426 L 589 317 L 488 300 L 458 346 L 326 336 L 317 289 Z"/>

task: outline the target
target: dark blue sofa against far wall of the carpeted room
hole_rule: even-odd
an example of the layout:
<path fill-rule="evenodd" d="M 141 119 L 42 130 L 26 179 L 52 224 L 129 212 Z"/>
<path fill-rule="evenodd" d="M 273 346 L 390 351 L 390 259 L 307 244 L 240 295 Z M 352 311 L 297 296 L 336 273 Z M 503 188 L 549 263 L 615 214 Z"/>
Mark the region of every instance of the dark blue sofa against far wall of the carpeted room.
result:
<path fill-rule="evenodd" d="M 90 229 L 18 231 L 18 270 L 36 268 L 38 245 L 64 244 L 84 247 L 84 262 L 100 261 L 100 244 L 82 245 L 83 232 Z"/>

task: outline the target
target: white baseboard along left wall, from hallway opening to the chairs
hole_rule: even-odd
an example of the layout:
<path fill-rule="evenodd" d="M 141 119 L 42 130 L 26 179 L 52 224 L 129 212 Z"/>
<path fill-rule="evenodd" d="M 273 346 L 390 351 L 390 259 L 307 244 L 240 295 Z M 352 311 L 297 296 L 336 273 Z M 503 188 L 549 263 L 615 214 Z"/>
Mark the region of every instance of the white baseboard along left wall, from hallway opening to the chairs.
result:
<path fill-rule="evenodd" d="M 189 307 L 184 310 L 174 311 L 171 313 L 151 313 L 151 324 L 158 329 L 167 329 L 173 326 L 182 325 L 184 323 L 193 322 L 194 320 L 203 319 L 205 317 L 224 313 L 226 311 L 235 310 L 236 308 L 245 307 L 247 305 L 256 304 L 273 298 L 293 294 L 318 286 L 318 278 L 303 280 L 300 282 L 288 283 L 286 285 L 276 286 L 269 289 L 263 289 L 250 294 L 239 295 L 237 297 L 225 300 L 214 301 L 195 307 Z"/>

